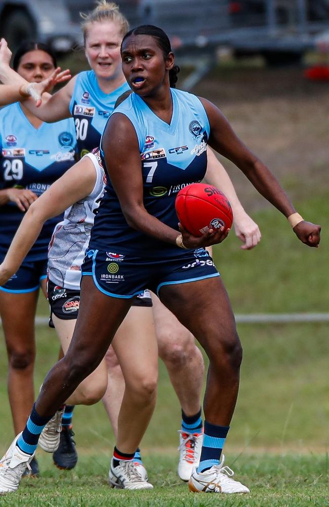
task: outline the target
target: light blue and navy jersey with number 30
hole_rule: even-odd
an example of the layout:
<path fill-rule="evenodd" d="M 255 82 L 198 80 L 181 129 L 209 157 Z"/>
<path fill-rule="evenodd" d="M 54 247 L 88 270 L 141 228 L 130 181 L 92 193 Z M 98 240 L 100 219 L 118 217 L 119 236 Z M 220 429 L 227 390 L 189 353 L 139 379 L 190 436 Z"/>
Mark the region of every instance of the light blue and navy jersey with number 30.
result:
<path fill-rule="evenodd" d="M 93 70 L 77 75 L 70 101 L 70 113 L 75 123 L 79 159 L 99 147 L 101 135 L 116 99 L 127 90 L 130 90 L 129 85 L 124 83 L 112 93 L 104 93 Z"/>

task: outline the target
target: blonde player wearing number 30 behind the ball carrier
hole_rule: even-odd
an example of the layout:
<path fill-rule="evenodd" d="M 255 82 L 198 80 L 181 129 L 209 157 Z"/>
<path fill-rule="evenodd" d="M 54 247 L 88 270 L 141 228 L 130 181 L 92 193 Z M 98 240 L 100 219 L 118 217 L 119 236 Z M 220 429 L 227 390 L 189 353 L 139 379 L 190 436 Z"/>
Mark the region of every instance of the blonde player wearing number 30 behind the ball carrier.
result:
<path fill-rule="evenodd" d="M 94 11 L 85 16 L 82 25 L 85 51 L 91 70 L 79 73 L 72 78 L 63 89 L 49 97 L 47 103 L 43 103 L 37 110 L 26 103 L 27 107 L 45 121 L 55 121 L 72 115 L 75 121 L 79 156 L 99 145 L 100 135 L 116 98 L 125 90 L 130 89 L 122 74 L 119 51 L 127 28 L 128 22 L 119 13 L 115 4 L 100 2 Z M 2 60 L 5 63 L 6 58 Z M 8 65 L 0 66 L 0 78 L 17 79 Z M 220 171 L 226 181 L 227 175 L 224 170 L 223 173 L 221 172 L 222 167 L 215 156 L 211 157 L 210 154 L 210 160 L 209 170 L 213 173 Z M 217 177 L 222 179 L 221 176 Z M 212 182 L 212 179 L 209 181 Z M 218 185 L 218 182 L 213 183 Z M 221 184 L 219 186 L 221 187 Z M 248 248 L 255 246 L 260 239 L 258 226 L 244 212 L 238 201 L 235 201 L 235 193 L 231 193 L 226 187 L 222 190 L 227 193 L 233 204 L 236 233 L 243 238 Z M 236 202 L 235 207 L 233 201 Z M 137 303 L 141 306 L 150 305 L 150 300 L 139 298 Z M 199 443 L 202 439 L 198 414 L 203 382 L 203 359 L 193 337 L 177 324 L 173 316 L 168 316 L 168 312 L 158 301 L 154 301 L 154 305 L 159 355 L 166 364 L 182 408 L 179 475 L 183 480 L 188 480 L 191 467 L 198 461 L 199 456 L 199 445 L 194 445 L 194 443 Z M 67 314 L 67 317 L 72 317 L 74 320 L 76 314 L 72 312 Z M 141 333 L 149 332 L 148 329 L 152 324 L 152 314 L 149 309 L 132 308 L 127 319 L 126 324 L 129 325 L 129 329 L 135 332 L 140 330 Z M 66 324 L 68 325 L 68 322 Z M 59 328 L 58 322 L 57 328 Z M 117 414 L 124 392 L 124 382 L 112 348 L 106 355 L 106 361 L 108 389 L 103 402 L 116 433 Z M 64 412 L 59 449 L 53 456 L 54 462 L 63 468 L 71 468 L 77 459 L 70 429 L 71 412 L 72 406 L 68 405 Z M 55 420 L 53 422 L 55 433 L 57 433 L 56 428 L 60 426 Z M 197 434 L 197 440 L 194 442 L 195 434 Z"/>

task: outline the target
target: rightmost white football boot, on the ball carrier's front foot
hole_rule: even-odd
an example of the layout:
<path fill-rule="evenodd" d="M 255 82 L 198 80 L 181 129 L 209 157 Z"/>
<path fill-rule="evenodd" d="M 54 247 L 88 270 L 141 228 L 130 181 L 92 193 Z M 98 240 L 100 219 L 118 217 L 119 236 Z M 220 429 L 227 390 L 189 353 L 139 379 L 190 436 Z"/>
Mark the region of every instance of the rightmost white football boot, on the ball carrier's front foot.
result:
<path fill-rule="evenodd" d="M 197 473 L 193 470 L 188 487 L 193 493 L 250 493 L 246 486 L 238 481 L 234 481 L 233 470 L 224 466 L 225 456 L 219 465 L 214 465 L 204 472 Z"/>

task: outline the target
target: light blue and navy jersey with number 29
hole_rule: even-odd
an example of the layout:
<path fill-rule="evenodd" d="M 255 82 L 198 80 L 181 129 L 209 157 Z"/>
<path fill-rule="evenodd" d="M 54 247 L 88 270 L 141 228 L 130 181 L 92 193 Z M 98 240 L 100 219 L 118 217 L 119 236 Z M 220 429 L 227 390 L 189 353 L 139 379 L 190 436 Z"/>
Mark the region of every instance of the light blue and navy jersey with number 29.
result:
<path fill-rule="evenodd" d="M 70 118 L 43 123 L 27 120 L 19 103 L 0 111 L 0 189 L 25 188 L 37 196 L 74 164 L 75 132 Z M 0 255 L 10 246 L 24 213 L 13 202 L 0 206 Z M 48 243 L 62 215 L 48 220 L 26 260 L 47 259 Z"/>

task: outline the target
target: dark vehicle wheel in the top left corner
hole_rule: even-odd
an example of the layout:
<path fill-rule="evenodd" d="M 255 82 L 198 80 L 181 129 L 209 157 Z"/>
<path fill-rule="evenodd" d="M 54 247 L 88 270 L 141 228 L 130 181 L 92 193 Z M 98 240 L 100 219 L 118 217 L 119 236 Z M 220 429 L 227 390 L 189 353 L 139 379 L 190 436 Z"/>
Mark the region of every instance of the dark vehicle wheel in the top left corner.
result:
<path fill-rule="evenodd" d="M 23 41 L 35 39 L 35 24 L 24 10 L 13 11 L 3 20 L 2 36 L 14 53 Z"/>

